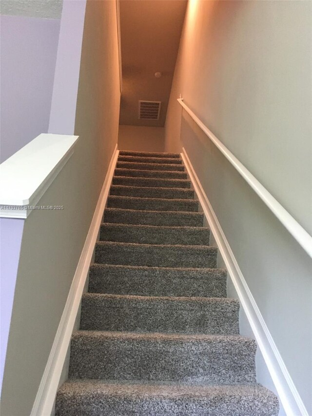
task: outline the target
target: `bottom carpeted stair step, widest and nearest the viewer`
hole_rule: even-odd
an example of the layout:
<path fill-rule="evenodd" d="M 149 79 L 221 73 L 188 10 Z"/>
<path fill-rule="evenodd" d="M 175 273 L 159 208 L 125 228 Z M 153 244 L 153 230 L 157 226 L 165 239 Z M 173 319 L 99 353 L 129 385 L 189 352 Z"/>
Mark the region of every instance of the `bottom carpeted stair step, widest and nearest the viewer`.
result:
<path fill-rule="evenodd" d="M 258 385 L 194 386 L 73 380 L 64 383 L 56 416 L 276 416 L 278 400 Z"/>

